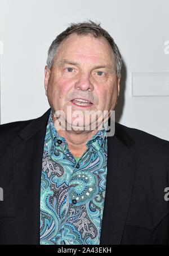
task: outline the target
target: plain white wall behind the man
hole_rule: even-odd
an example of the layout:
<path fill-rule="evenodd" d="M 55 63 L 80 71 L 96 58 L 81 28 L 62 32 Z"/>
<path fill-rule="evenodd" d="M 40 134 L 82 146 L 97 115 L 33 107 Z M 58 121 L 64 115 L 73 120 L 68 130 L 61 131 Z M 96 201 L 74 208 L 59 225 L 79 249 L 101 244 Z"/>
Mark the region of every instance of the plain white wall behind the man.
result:
<path fill-rule="evenodd" d="M 69 23 L 92 19 L 113 36 L 124 60 L 117 121 L 169 140 L 168 0 L 0 0 L 0 12 L 1 123 L 49 108 L 48 47 Z"/>

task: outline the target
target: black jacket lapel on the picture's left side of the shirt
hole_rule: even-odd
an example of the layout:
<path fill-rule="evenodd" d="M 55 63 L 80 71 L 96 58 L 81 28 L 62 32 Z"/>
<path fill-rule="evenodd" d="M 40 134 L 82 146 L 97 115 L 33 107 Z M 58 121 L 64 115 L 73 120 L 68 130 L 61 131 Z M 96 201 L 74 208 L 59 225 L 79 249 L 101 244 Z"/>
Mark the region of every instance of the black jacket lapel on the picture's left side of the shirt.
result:
<path fill-rule="evenodd" d="M 39 244 L 43 147 L 50 110 L 19 134 L 14 148 L 16 218 L 20 244 Z"/>

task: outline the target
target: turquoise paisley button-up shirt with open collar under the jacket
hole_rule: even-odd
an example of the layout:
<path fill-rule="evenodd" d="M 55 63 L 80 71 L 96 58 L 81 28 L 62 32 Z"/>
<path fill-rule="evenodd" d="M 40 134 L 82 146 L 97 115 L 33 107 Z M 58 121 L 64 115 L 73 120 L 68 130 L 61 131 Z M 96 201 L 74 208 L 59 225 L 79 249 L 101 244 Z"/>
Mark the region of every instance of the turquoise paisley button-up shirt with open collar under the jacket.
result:
<path fill-rule="evenodd" d="M 41 177 L 40 244 L 100 244 L 107 173 L 107 136 L 99 130 L 79 160 L 57 134 L 50 113 Z"/>

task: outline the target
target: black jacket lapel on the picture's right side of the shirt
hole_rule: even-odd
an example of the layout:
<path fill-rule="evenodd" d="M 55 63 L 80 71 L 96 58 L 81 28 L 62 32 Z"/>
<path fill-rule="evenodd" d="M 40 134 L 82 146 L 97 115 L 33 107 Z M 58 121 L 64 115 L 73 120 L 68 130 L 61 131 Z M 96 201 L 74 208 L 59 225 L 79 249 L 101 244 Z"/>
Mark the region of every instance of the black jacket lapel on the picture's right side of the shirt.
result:
<path fill-rule="evenodd" d="M 130 206 L 136 156 L 130 152 L 134 140 L 115 123 L 115 135 L 108 137 L 108 173 L 100 244 L 121 244 Z"/>

